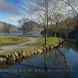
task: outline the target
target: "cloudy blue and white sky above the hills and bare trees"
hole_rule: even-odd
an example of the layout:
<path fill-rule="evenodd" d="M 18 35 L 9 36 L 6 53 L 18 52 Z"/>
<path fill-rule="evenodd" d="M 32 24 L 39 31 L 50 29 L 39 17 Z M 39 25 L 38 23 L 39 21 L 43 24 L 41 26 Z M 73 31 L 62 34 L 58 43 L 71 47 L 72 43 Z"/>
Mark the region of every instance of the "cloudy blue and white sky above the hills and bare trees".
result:
<path fill-rule="evenodd" d="M 44 0 L 0 0 L 0 21 L 18 25 L 18 20 L 23 17 L 39 21 L 44 14 Z M 71 7 L 62 0 L 48 0 L 49 10 L 53 8 L 64 15 L 72 16 Z M 70 0 L 71 5 L 77 10 L 78 0 Z"/>

